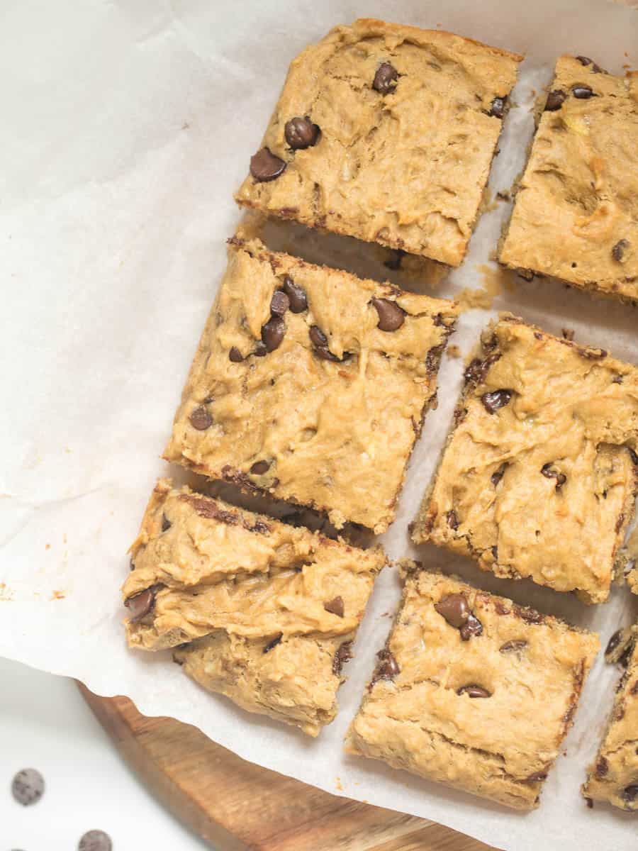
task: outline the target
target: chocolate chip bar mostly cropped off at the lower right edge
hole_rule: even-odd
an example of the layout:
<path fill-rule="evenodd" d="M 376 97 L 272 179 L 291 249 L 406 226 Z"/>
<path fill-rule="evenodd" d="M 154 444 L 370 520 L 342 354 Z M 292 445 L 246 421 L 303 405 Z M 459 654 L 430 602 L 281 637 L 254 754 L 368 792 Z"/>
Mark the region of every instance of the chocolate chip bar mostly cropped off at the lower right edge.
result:
<path fill-rule="evenodd" d="M 611 657 L 611 658 L 610 658 Z M 626 670 L 618 683 L 612 716 L 583 786 L 585 797 L 638 812 L 638 625 L 618 630 L 607 647 L 609 661 Z"/>

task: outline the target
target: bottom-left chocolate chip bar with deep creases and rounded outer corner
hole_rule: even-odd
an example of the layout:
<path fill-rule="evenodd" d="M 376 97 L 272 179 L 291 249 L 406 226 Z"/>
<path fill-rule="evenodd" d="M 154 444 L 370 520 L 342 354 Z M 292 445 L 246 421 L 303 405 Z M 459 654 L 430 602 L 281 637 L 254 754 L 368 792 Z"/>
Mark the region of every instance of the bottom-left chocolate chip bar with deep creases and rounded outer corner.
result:
<path fill-rule="evenodd" d="M 162 479 L 131 547 L 128 645 L 178 648 L 209 691 L 316 735 L 385 556 L 172 488 Z"/>

